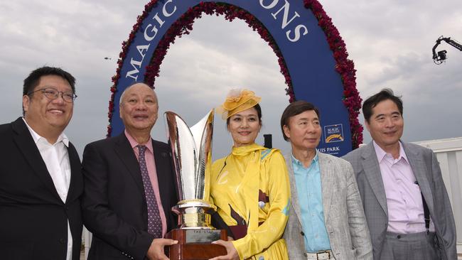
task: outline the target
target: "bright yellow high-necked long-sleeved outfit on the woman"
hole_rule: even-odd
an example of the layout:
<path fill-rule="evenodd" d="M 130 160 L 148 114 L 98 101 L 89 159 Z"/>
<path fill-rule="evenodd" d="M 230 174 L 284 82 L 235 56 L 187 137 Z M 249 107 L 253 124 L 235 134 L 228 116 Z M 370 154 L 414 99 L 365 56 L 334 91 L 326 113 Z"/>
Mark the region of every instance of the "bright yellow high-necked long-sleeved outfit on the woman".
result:
<path fill-rule="evenodd" d="M 281 152 L 257 144 L 233 147 L 212 166 L 210 196 L 229 226 L 247 225 L 232 242 L 240 259 L 289 259 L 284 239 L 290 185 Z"/>

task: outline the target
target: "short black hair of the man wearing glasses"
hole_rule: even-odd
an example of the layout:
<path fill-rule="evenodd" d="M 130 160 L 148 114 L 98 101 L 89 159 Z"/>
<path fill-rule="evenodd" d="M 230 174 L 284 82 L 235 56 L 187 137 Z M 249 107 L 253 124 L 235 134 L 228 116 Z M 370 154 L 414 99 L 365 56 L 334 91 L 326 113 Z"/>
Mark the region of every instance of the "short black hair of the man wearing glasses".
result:
<path fill-rule="evenodd" d="M 69 82 L 72 92 L 75 93 L 75 77 L 73 77 L 69 72 L 61 69 L 60 67 L 48 67 L 43 66 L 39 67 L 36 70 L 33 70 L 24 80 L 23 85 L 23 96 L 33 91 L 37 87 L 40 78 L 48 75 L 56 75 L 63 77 L 63 79 Z"/>

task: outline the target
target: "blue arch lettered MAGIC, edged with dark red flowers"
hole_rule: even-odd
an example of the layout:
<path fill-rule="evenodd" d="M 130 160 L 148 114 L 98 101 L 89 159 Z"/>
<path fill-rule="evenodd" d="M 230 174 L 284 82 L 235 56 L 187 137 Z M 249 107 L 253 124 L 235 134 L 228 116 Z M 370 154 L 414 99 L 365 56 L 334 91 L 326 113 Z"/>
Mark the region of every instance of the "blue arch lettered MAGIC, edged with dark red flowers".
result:
<path fill-rule="evenodd" d="M 120 94 L 134 82 L 143 82 L 146 67 L 159 61 L 158 57 L 152 58 L 168 28 L 176 21 L 181 21 L 179 19 L 193 7 L 202 6 L 203 3 L 217 3 L 247 11 L 272 36 L 289 70 L 295 99 L 313 103 L 323 115 L 323 134 L 326 138 L 319 148 L 327 150 L 335 146 L 338 156 L 351 151 L 349 112 L 343 103 L 344 86 L 339 74 L 343 65 L 336 63 L 326 33 L 320 27 L 326 25 L 319 22 L 313 11 L 304 6 L 306 1 L 153 0 L 150 4 L 153 2 L 155 4 L 139 21 L 140 26 L 136 27 L 134 37 L 130 37 L 128 48 L 122 55 L 122 64 L 117 70 L 114 86 L 117 92 L 112 99 L 114 108 L 109 109 L 111 136 L 124 131 L 119 118 Z M 315 0 L 311 2 L 318 4 Z"/>

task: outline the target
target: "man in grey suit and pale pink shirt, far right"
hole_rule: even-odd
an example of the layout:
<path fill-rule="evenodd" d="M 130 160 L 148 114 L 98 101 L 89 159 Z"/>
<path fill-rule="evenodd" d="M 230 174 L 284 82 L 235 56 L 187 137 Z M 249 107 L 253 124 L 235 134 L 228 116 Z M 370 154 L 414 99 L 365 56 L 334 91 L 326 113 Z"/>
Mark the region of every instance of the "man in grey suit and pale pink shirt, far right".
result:
<path fill-rule="evenodd" d="M 456 227 L 439 163 L 400 141 L 402 100 L 382 90 L 362 105 L 372 142 L 348 153 L 364 203 L 374 259 L 457 259 Z"/>

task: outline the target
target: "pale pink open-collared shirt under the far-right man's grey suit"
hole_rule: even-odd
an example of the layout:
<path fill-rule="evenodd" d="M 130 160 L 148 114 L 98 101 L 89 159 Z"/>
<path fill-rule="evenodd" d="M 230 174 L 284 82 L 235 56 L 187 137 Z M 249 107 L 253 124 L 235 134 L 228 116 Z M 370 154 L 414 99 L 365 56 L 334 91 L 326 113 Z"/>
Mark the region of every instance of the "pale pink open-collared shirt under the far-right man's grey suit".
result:
<path fill-rule="evenodd" d="M 421 191 L 402 143 L 399 142 L 397 159 L 383 151 L 375 141 L 373 143 L 387 197 L 387 231 L 398 234 L 425 232 Z M 434 229 L 432 224 L 430 229 Z"/>

